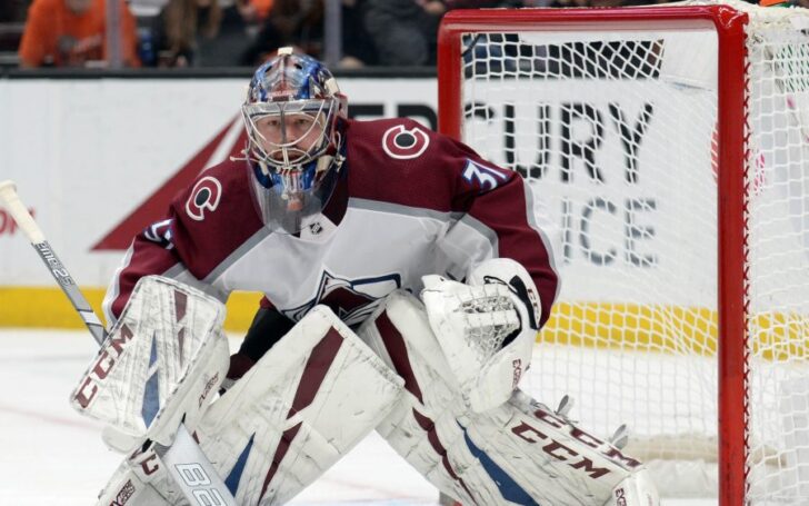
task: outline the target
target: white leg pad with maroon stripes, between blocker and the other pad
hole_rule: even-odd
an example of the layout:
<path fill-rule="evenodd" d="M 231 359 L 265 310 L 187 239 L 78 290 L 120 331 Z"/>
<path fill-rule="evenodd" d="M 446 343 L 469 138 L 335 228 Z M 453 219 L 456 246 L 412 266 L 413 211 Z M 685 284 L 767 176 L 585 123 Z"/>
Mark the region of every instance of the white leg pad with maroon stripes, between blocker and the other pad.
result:
<path fill-rule="evenodd" d="M 213 403 L 200 447 L 238 504 L 282 504 L 388 415 L 402 383 L 317 306 Z"/>

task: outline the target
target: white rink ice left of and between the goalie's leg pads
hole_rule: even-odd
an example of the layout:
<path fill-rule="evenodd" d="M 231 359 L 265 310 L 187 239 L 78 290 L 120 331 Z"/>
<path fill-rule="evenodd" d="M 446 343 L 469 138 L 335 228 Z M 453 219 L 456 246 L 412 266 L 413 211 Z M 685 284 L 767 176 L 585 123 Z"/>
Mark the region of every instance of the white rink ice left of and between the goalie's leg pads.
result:
<path fill-rule="evenodd" d="M 0 506 L 92 505 L 118 466 L 121 456 L 103 445 L 101 426 L 68 405 L 94 351 L 86 331 L 0 329 Z M 437 498 L 435 487 L 372 434 L 292 504 L 411 506 Z"/>

